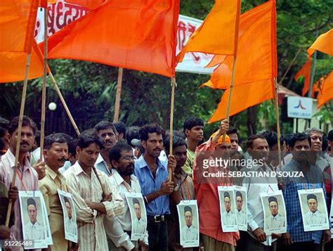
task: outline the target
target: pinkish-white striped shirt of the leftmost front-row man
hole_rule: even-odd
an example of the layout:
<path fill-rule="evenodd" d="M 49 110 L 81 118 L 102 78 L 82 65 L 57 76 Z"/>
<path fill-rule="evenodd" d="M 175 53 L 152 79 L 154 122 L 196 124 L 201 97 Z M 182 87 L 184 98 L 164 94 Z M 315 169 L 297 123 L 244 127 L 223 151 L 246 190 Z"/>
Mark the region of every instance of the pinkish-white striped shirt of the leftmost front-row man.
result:
<path fill-rule="evenodd" d="M 15 186 L 18 187 L 19 191 L 39 190 L 37 172 L 30 166 L 27 157 L 25 157 L 23 162 L 25 163 L 23 169 L 17 170 Z M 1 182 L 3 182 L 8 189 L 13 180 L 14 167 L 15 155 L 13 155 L 11 150 L 8 150 L 5 155 L 1 156 L 0 162 Z M 13 207 L 15 212 L 15 224 L 11 227 L 11 233 L 16 240 L 23 240 L 20 201 L 18 199 L 15 201 Z"/>

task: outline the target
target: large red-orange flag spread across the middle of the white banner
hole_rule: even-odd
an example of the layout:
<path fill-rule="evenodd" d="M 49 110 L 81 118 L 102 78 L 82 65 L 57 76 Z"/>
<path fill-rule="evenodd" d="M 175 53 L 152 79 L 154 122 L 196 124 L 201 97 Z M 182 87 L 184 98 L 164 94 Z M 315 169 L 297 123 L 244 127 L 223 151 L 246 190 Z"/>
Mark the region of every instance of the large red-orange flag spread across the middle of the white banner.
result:
<path fill-rule="evenodd" d="M 179 0 L 114 0 L 48 39 L 48 58 L 175 75 Z"/>

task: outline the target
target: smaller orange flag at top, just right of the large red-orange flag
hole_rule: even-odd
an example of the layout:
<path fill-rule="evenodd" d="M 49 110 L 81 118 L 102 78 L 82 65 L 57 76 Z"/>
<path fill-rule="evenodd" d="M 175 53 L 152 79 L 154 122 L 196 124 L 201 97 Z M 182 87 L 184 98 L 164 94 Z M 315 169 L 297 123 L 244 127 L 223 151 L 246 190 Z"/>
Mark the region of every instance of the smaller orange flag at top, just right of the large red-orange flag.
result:
<path fill-rule="evenodd" d="M 178 53 L 181 62 L 187 52 L 235 55 L 240 22 L 240 0 L 216 0 L 211 12 Z"/>

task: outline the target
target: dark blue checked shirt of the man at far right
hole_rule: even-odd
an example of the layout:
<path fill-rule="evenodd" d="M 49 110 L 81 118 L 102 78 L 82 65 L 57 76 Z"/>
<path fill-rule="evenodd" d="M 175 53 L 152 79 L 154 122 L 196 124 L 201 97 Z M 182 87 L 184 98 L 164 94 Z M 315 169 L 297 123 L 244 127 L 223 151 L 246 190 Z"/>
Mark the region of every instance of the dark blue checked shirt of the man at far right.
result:
<path fill-rule="evenodd" d="M 282 171 L 286 172 L 301 172 L 301 166 L 298 162 L 292 159 L 287 165 L 282 167 Z M 311 166 L 308 172 L 303 173 L 304 177 L 287 177 L 285 178 L 285 188 L 283 196 L 287 210 L 287 233 L 292 236 L 294 243 L 314 242 L 320 244 L 322 231 L 306 231 L 304 232 L 301 205 L 299 204 L 299 190 L 311 190 L 313 188 L 322 188 L 325 193 L 325 186 L 320 168 Z"/>

